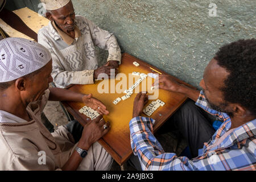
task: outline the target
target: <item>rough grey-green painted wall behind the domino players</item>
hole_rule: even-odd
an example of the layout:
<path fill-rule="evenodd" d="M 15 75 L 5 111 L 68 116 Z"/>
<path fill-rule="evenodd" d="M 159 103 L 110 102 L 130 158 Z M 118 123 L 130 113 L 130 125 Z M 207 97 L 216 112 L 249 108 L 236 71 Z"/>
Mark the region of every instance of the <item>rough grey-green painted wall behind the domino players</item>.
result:
<path fill-rule="evenodd" d="M 205 66 L 226 43 L 256 36 L 256 1 L 72 0 L 76 14 L 113 32 L 130 53 L 199 88 Z M 217 16 L 209 16 L 210 3 Z M 212 9 L 213 10 L 213 9 Z M 107 51 L 99 51 L 101 59 Z"/>

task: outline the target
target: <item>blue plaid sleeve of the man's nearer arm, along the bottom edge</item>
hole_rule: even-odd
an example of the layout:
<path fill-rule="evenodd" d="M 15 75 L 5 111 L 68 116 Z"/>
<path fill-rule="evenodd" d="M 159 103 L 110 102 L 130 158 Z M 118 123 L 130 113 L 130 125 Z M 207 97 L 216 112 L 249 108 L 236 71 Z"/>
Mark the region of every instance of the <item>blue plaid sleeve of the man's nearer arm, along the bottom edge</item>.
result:
<path fill-rule="evenodd" d="M 192 171 L 192 170 L 225 170 L 223 154 L 232 152 L 222 150 L 221 155 L 210 151 L 198 158 L 189 160 L 185 156 L 177 156 L 175 153 L 166 153 L 152 134 L 154 119 L 136 117 L 130 121 L 131 147 L 134 155 L 137 155 L 142 170 L 149 171 Z M 233 151 L 234 152 L 234 151 Z M 220 153 L 220 152 L 219 152 Z M 227 154 L 226 156 L 229 156 Z M 230 159 L 230 163 L 233 163 Z"/>

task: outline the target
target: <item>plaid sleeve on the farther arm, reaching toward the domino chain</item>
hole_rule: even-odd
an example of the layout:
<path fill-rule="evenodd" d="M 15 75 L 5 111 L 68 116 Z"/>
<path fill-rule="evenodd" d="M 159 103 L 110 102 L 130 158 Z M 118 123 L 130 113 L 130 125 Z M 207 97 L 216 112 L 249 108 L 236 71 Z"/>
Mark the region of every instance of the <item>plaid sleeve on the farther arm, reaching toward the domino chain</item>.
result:
<path fill-rule="evenodd" d="M 211 108 L 208 106 L 208 102 L 207 102 L 207 100 L 206 100 L 206 98 L 205 98 L 205 96 L 204 96 L 203 90 L 201 90 L 200 95 L 199 95 L 199 98 L 197 98 L 197 101 L 196 101 L 195 105 L 201 107 L 202 109 L 204 109 L 205 111 L 207 111 L 209 114 L 212 114 L 212 115 L 218 117 L 220 120 L 222 120 L 222 121 L 224 121 L 224 122 L 225 122 L 228 118 L 230 118 L 228 114 L 222 113 L 222 112 L 217 111 L 217 110 L 213 110 L 213 109 L 211 109 Z"/>

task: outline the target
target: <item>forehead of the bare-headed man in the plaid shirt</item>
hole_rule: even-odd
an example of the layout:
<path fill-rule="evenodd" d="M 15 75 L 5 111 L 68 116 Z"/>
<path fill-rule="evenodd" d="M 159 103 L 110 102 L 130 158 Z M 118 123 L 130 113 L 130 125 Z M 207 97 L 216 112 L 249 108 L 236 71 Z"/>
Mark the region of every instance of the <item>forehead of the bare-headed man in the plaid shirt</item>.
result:
<path fill-rule="evenodd" d="M 224 86 L 224 81 L 229 73 L 225 68 L 218 65 L 217 60 L 210 60 L 204 71 L 205 86 L 210 89 L 220 89 Z"/>

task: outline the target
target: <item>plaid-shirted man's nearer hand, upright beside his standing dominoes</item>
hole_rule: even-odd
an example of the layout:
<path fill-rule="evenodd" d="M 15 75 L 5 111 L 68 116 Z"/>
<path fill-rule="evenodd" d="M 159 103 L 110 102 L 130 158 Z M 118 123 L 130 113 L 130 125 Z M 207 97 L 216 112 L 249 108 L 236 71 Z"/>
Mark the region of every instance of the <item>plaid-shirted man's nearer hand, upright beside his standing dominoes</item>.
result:
<path fill-rule="evenodd" d="M 138 93 L 133 102 L 133 118 L 142 114 L 144 104 L 148 101 L 146 93 Z"/>

